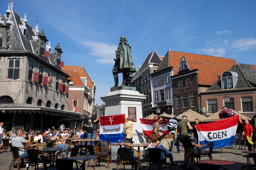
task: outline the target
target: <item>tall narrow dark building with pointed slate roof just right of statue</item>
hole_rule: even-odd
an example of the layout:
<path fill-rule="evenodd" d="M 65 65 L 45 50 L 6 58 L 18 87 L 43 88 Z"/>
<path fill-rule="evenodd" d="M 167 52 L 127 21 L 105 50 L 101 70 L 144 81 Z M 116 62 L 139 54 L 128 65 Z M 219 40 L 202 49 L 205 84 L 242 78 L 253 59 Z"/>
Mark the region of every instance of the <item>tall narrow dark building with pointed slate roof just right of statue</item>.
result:
<path fill-rule="evenodd" d="M 142 78 L 139 77 L 137 73 L 133 75 L 132 86 L 136 87 L 137 91 L 143 95 L 146 95 L 146 99 L 142 101 L 142 114 L 143 117 L 148 116 L 152 112 L 155 112 L 155 109 L 152 108 L 152 86 L 151 86 L 151 77 L 150 74 L 154 73 L 159 64 L 161 63 L 162 58 L 159 56 L 157 51 L 154 49 L 147 56 L 146 60 L 143 62 L 142 66 L 139 68 L 138 72 Z"/>

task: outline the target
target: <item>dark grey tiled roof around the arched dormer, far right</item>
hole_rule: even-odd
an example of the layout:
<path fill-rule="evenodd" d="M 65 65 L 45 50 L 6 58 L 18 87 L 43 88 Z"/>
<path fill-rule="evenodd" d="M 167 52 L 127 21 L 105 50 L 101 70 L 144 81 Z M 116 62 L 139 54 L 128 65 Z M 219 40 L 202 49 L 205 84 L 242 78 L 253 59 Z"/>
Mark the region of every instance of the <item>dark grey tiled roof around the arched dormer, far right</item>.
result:
<path fill-rule="evenodd" d="M 239 63 L 225 71 L 233 71 L 238 74 L 235 88 L 256 87 L 255 65 Z M 213 90 L 221 90 L 221 78 L 219 78 L 207 91 Z"/>

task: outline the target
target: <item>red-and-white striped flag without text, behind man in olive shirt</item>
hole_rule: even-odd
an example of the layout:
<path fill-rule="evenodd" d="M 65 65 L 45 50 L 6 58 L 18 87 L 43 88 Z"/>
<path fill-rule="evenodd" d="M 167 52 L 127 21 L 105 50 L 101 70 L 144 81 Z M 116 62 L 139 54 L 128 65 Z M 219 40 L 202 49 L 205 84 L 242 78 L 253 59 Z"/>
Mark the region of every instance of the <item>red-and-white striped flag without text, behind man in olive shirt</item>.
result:
<path fill-rule="evenodd" d="M 153 133 L 153 126 L 157 119 L 139 119 L 141 121 L 141 128 L 144 136 L 151 137 Z M 159 129 L 163 131 L 164 134 L 169 135 L 169 130 L 166 124 L 166 120 L 163 119 L 161 124 L 165 124 L 165 126 L 160 127 Z"/>

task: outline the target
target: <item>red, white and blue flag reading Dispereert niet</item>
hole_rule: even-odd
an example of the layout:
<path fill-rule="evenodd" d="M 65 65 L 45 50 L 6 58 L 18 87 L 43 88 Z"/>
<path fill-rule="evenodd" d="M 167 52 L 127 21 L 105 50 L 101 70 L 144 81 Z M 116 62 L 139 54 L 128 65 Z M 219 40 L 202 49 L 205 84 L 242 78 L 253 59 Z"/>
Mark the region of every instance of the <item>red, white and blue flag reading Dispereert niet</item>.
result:
<path fill-rule="evenodd" d="M 99 139 L 101 141 L 118 142 L 123 141 L 125 131 L 125 114 L 99 117 Z"/>

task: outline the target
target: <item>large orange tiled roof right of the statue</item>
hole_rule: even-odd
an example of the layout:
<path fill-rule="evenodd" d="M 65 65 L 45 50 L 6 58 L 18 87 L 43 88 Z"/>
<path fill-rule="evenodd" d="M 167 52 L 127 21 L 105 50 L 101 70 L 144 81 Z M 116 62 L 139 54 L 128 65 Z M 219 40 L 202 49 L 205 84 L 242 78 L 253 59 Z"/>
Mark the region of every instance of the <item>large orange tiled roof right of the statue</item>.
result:
<path fill-rule="evenodd" d="M 200 85 L 211 86 L 219 79 L 219 75 L 230 69 L 235 64 L 235 60 L 230 58 L 206 56 L 170 50 L 167 51 L 156 71 L 173 66 L 173 75 L 177 75 L 180 67 L 180 61 L 183 56 L 186 58 L 187 65 L 189 65 L 190 70 L 199 69 L 198 83 Z"/>

